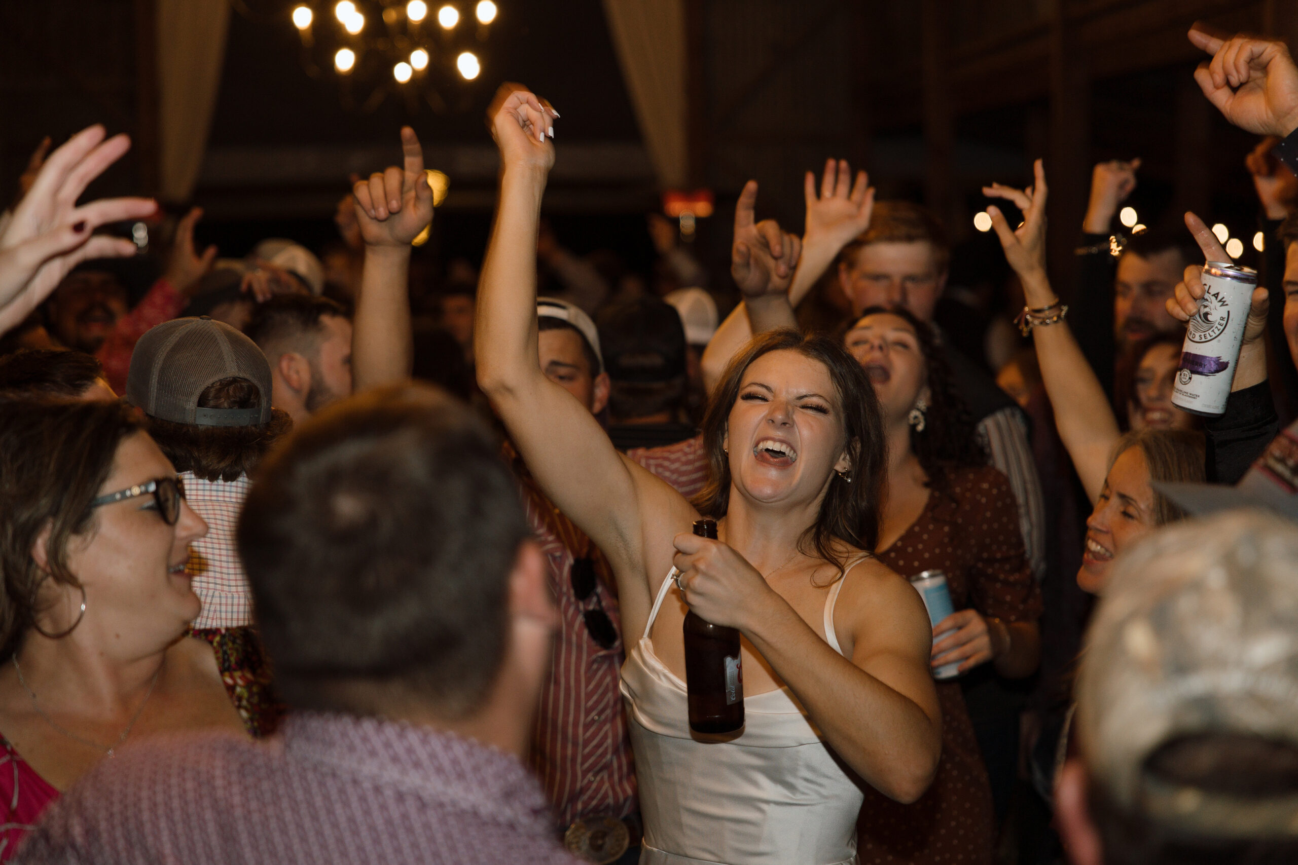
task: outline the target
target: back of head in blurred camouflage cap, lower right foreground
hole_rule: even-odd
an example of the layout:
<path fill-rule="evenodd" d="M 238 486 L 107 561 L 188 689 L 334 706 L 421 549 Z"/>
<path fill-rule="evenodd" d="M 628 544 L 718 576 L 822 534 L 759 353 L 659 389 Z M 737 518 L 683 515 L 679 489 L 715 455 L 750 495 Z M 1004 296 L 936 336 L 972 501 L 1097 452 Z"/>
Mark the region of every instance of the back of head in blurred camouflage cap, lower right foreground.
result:
<path fill-rule="evenodd" d="M 1115 568 L 1076 716 L 1106 865 L 1298 861 L 1295 567 L 1298 527 L 1233 511 Z"/>

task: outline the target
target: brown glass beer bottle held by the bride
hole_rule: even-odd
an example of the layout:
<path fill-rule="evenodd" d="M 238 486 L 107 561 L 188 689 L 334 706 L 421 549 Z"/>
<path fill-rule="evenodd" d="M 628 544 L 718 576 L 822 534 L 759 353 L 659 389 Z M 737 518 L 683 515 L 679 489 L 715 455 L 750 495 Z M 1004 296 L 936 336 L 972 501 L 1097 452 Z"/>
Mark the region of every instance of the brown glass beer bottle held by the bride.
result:
<path fill-rule="evenodd" d="M 716 539 L 716 520 L 694 521 L 694 534 Z M 744 670 L 739 630 L 685 613 L 685 687 L 689 729 L 729 733 L 744 726 Z"/>

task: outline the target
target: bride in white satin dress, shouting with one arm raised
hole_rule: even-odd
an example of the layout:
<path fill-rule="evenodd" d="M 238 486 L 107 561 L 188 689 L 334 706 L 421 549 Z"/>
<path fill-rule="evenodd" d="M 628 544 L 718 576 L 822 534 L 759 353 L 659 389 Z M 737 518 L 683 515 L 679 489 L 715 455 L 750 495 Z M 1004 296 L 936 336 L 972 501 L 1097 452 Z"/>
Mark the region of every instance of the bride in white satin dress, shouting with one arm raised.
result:
<path fill-rule="evenodd" d="M 785 331 L 750 342 L 704 429 L 711 479 L 700 506 L 720 539 L 692 534 L 700 510 L 614 450 L 537 362 L 536 230 L 557 117 L 509 86 L 491 110 L 502 171 L 478 293 L 478 383 L 541 489 L 611 563 L 623 634 L 643 634 L 622 685 L 640 861 L 851 862 L 857 785 L 914 801 L 941 747 L 928 616 L 864 552 L 884 476 L 874 389 L 832 341 Z M 753 266 L 787 278 L 797 244 L 770 240 L 753 245 Z M 688 728 L 691 608 L 742 634 L 746 724 L 724 742 Z"/>

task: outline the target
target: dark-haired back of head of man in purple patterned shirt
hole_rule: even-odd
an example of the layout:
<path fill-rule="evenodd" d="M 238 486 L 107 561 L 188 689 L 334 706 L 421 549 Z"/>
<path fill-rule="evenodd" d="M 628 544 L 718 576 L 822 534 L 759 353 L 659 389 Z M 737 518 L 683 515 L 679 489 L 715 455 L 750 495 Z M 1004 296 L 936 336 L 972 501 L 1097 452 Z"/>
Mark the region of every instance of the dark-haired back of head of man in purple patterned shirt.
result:
<path fill-rule="evenodd" d="M 528 537 L 517 485 L 465 403 L 406 385 L 334 403 L 262 464 L 238 545 L 276 687 L 366 713 L 391 693 L 472 713 L 506 645 Z"/>

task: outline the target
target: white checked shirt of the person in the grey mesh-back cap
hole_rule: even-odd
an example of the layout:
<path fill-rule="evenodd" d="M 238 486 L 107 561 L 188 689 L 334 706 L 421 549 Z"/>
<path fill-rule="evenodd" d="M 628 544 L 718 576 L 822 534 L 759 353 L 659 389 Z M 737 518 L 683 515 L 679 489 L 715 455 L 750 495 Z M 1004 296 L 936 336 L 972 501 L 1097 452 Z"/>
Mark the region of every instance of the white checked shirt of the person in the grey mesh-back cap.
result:
<path fill-rule="evenodd" d="M 235 552 L 235 523 L 248 495 L 248 476 L 238 480 L 205 481 L 193 472 L 180 472 L 186 501 L 208 524 L 208 536 L 190 545 L 186 572 L 193 577 L 193 591 L 202 600 L 202 612 L 193 628 L 240 628 L 252 624 L 252 593 Z"/>

